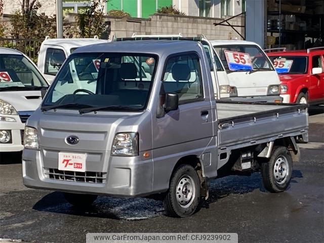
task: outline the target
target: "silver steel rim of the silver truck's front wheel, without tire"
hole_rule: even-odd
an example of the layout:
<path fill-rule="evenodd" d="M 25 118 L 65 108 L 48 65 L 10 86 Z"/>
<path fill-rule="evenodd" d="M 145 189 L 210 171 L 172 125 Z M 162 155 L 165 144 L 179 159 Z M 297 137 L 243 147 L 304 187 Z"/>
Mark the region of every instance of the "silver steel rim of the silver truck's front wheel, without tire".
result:
<path fill-rule="evenodd" d="M 191 205 L 195 196 L 195 187 L 193 179 L 184 175 L 180 178 L 177 188 L 176 188 L 176 197 L 178 204 L 182 208 L 187 208 Z"/>

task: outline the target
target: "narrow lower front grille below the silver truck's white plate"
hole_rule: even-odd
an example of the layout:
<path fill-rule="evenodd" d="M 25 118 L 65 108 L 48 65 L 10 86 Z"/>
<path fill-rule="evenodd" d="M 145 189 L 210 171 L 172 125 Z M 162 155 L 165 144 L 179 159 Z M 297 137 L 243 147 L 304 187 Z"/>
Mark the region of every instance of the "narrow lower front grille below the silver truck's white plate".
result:
<path fill-rule="evenodd" d="M 47 178 L 60 181 L 75 181 L 75 182 L 90 182 L 90 183 L 105 183 L 107 173 L 104 172 L 75 172 L 75 171 L 60 171 L 58 169 L 45 168 L 44 174 Z"/>

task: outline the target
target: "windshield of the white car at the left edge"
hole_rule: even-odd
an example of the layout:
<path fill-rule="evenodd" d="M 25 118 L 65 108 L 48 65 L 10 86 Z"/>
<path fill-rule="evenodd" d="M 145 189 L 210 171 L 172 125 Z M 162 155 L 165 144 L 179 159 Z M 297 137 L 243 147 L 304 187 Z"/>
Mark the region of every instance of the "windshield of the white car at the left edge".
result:
<path fill-rule="evenodd" d="M 37 68 L 23 55 L 0 54 L 0 91 L 48 87 Z"/>

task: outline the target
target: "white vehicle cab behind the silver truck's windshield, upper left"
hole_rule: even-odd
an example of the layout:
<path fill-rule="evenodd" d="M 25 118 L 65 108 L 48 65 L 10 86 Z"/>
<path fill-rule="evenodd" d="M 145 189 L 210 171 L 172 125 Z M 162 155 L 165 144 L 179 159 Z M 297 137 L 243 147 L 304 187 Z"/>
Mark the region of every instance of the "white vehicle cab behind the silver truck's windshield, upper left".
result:
<path fill-rule="evenodd" d="M 65 59 L 78 47 L 107 43 L 106 39 L 94 38 L 70 38 L 70 39 L 51 39 L 49 36 L 45 38 L 39 49 L 37 66 L 44 74 L 49 83 L 53 79 L 62 66 Z"/>

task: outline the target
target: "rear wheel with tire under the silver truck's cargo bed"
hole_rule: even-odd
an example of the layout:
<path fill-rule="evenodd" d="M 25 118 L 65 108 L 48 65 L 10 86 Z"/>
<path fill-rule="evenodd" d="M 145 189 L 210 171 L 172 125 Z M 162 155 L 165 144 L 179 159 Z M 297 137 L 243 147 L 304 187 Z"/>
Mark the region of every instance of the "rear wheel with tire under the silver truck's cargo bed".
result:
<path fill-rule="evenodd" d="M 287 189 L 293 172 L 293 160 L 284 146 L 275 146 L 269 160 L 261 164 L 262 182 L 270 192 Z"/>

